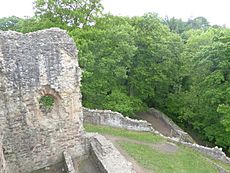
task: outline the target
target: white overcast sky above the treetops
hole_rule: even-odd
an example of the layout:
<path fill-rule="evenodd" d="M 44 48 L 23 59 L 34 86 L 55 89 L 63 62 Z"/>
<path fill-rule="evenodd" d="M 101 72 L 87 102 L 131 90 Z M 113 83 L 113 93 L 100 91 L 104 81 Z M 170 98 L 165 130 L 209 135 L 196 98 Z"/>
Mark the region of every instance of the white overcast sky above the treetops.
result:
<path fill-rule="evenodd" d="M 33 0 L 0 0 L 0 17 L 32 16 Z M 186 20 L 203 16 L 211 24 L 230 27 L 230 0 L 102 0 L 106 12 L 115 15 L 143 15 L 156 12 L 161 17 Z"/>

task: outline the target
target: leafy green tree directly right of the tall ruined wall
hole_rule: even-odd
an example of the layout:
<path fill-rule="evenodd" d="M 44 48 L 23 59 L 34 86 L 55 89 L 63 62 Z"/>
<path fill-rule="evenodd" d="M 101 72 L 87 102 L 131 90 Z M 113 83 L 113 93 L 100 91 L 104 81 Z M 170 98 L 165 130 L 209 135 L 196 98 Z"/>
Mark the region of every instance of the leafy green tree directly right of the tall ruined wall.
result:
<path fill-rule="evenodd" d="M 136 53 L 136 31 L 128 18 L 104 16 L 94 27 L 75 29 L 70 35 L 79 46 L 83 105 L 134 115 L 144 107 L 127 92 L 127 73 Z"/>

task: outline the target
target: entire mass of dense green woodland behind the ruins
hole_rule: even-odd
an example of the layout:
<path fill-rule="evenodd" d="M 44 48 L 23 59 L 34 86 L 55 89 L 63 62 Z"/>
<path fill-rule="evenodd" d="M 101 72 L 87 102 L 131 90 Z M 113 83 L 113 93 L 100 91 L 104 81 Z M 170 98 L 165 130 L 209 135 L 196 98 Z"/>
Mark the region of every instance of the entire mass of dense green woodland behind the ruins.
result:
<path fill-rule="evenodd" d="M 203 17 L 102 15 L 100 0 L 35 0 L 36 15 L 0 30 L 69 32 L 83 69 L 83 105 L 128 116 L 156 107 L 230 151 L 230 29 Z"/>

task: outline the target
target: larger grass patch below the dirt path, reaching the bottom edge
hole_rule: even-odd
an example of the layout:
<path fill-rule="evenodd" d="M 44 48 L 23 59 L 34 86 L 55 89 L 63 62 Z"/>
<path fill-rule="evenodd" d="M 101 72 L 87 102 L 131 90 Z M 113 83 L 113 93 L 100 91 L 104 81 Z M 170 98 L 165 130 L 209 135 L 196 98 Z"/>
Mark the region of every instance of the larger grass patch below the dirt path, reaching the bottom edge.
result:
<path fill-rule="evenodd" d="M 119 142 L 140 165 L 158 173 L 217 173 L 216 168 L 191 149 L 181 147 L 176 153 L 161 153 L 147 145 Z"/>

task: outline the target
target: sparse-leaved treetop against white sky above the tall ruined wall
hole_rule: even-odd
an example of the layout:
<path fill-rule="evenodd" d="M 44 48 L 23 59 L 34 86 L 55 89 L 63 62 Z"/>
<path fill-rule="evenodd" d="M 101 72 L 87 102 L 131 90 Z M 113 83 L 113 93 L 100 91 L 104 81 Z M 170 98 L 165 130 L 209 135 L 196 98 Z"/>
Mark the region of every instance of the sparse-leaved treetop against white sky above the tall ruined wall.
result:
<path fill-rule="evenodd" d="M 100 0 L 35 0 L 35 14 L 69 26 L 91 25 L 102 12 Z"/>

